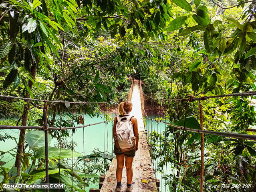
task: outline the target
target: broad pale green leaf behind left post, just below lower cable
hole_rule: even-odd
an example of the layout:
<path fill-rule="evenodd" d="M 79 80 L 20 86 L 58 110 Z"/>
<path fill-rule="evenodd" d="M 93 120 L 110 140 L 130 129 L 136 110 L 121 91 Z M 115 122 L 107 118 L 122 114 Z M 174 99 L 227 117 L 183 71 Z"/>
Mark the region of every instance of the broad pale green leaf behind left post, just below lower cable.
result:
<path fill-rule="evenodd" d="M 39 130 L 30 131 L 26 133 L 25 137 L 30 149 L 32 150 L 38 150 L 39 148 L 45 145 L 44 131 L 39 131 Z M 52 141 L 52 136 L 48 134 L 48 146 L 50 145 L 51 141 Z"/>

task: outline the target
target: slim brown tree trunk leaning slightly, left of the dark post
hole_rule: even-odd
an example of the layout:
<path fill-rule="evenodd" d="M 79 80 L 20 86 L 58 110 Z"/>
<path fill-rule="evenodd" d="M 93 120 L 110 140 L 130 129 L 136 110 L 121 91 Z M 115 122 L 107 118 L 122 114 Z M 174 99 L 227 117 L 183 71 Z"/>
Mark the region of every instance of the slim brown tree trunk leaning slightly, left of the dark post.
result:
<path fill-rule="evenodd" d="M 34 78 L 36 77 L 36 63 L 35 62 L 33 62 L 33 65 L 31 67 L 31 74 Z M 28 86 L 30 89 L 32 88 L 33 82 L 31 80 L 28 80 Z M 26 98 L 30 98 L 30 95 L 27 91 L 26 91 Z M 22 121 L 21 121 L 22 126 L 27 125 L 29 107 L 30 107 L 30 100 L 26 100 L 26 104 L 24 104 L 24 110 L 23 110 L 23 114 L 22 114 Z M 26 129 L 20 130 L 20 137 L 19 137 L 18 149 L 17 149 L 17 154 L 16 154 L 16 160 L 15 160 L 15 167 L 17 168 L 18 176 L 20 176 L 21 158 L 22 158 L 22 153 L 23 153 L 23 149 L 24 149 L 25 133 L 26 133 Z"/>

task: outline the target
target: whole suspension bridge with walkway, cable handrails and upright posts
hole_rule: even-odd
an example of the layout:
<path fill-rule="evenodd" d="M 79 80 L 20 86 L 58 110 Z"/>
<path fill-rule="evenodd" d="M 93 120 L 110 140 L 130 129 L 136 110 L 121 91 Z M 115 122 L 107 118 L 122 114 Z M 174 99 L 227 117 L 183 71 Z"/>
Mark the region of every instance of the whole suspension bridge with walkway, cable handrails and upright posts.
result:
<path fill-rule="evenodd" d="M 227 95 L 216 95 L 216 96 L 204 96 L 200 98 L 178 98 L 174 99 L 174 101 L 185 101 L 185 102 L 194 102 L 199 101 L 199 108 L 200 108 L 200 126 L 201 129 L 191 129 L 187 128 L 185 126 L 185 120 L 184 120 L 184 126 L 178 126 L 169 122 L 165 122 L 162 120 L 156 120 L 151 119 L 144 110 L 144 98 L 143 98 L 143 91 L 141 88 L 141 81 L 140 80 L 132 80 L 131 88 L 127 94 L 127 99 L 131 100 L 133 103 L 133 110 L 131 111 L 131 114 L 137 118 L 138 121 L 138 130 L 139 130 L 139 150 L 137 150 L 134 162 L 133 162 L 133 191 L 134 192 L 157 192 L 159 190 L 159 180 L 156 180 L 155 178 L 155 170 L 152 166 L 152 160 L 149 153 L 149 145 L 146 137 L 146 130 L 144 127 L 143 122 L 143 116 L 147 118 L 148 120 L 155 121 L 155 122 L 162 122 L 168 126 L 172 126 L 176 128 L 177 130 L 183 130 L 183 131 L 189 131 L 189 132 L 198 132 L 201 133 L 201 172 L 200 172 L 200 191 L 203 192 L 203 180 L 204 180 L 204 134 L 208 135 L 217 135 L 222 137 L 230 137 L 230 138 L 241 138 L 246 140 L 256 140 L 256 135 L 250 135 L 250 134 L 238 134 L 238 133 L 232 133 L 232 132 L 218 132 L 218 131 L 211 131 L 211 130 L 205 130 L 203 125 L 203 111 L 202 111 L 202 100 L 207 100 L 210 98 L 221 98 L 221 97 L 227 97 L 227 96 L 255 96 L 256 91 L 250 91 L 250 92 L 242 92 L 242 93 L 234 93 L 234 94 L 227 94 Z M 145 94 L 144 94 L 145 95 Z M 26 130 L 26 129 L 38 129 L 43 130 L 45 132 L 45 182 L 49 182 L 48 177 L 48 130 L 59 130 L 60 135 L 61 131 L 65 129 L 77 129 L 77 128 L 85 128 L 88 126 L 93 126 L 95 124 L 101 124 L 106 123 L 108 120 L 104 120 L 103 122 L 97 122 L 94 124 L 87 124 L 83 126 L 74 126 L 73 120 L 72 120 L 72 127 L 49 127 L 47 124 L 47 106 L 48 104 L 58 104 L 60 106 L 60 103 L 69 103 L 69 104 L 99 104 L 99 102 L 68 102 L 68 101 L 60 101 L 60 100 L 39 100 L 39 99 L 31 99 L 31 98 L 21 98 L 21 97 L 15 97 L 15 96 L 4 96 L 0 95 L 0 98 L 5 99 L 20 99 L 25 100 L 26 102 L 29 101 L 38 101 L 38 102 L 44 102 L 44 104 L 41 104 L 41 106 L 44 106 L 43 112 L 43 120 L 44 125 L 43 126 L 4 126 L 0 125 L 0 129 L 20 129 L 20 130 Z M 101 102 L 101 104 L 106 104 L 107 102 Z M 60 112 L 60 108 L 59 108 Z M 59 113 L 61 115 L 61 112 Z M 60 122 L 61 125 L 61 122 Z M 249 130 L 248 130 L 249 131 Z M 73 134 L 72 134 L 73 136 Z M 24 143 L 22 143 L 24 144 Z M 85 151 L 85 150 L 84 150 Z M 60 159 L 60 154 L 59 154 Z M 72 157 L 72 160 L 74 158 Z M 101 176 L 100 178 L 100 184 L 99 189 L 90 189 L 90 192 L 114 192 L 115 186 L 116 186 L 116 179 L 115 179 L 115 170 L 117 167 L 117 161 L 115 158 L 113 158 L 106 175 Z M 72 161 L 72 172 L 73 172 L 73 161 Z M 60 172 L 59 172 L 60 174 Z M 86 177 L 86 173 L 85 173 Z M 185 175 L 184 175 L 185 177 Z M 122 186 L 124 188 L 122 191 L 125 191 L 125 185 L 126 184 L 126 171 L 125 167 L 123 168 L 123 176 L 122 176 Z M 72 188 L 73 188 L 73 176 L 72 176 Z M 48 190 L 46 190 L 48 191 Z"/>

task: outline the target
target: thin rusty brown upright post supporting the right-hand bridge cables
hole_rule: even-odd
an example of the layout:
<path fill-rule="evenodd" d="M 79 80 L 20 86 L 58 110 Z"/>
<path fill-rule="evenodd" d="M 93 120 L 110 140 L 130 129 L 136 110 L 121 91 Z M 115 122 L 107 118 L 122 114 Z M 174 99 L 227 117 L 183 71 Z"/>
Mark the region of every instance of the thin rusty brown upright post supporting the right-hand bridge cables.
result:
<path fill-rule="evenodd" d="M 199 100 L 200 127 L 204 130 L 203 106 Z M 203 192 L 204 184 L 204 134 L 201 133 L 201 174 L 200 174 L 200 192 Z"/>

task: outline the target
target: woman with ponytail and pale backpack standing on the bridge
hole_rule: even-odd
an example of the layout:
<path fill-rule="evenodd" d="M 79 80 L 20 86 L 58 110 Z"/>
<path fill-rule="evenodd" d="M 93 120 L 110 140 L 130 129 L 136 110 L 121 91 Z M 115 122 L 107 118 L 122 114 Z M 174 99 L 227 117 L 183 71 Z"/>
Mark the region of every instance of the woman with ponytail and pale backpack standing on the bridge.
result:
<path fill-rule="evenodd" d="M 137 119 L 130 115 L 132 102 L 125 100 L 118 106 L 119 115 L 115 117 L 113 138 L 115 140 L 114 153 L 117 156 L 117 186 L 115 191 L 120 192 L 123 166 L 125 162 L 127 176 L 127 192 L 131 192 L 133 179 L 133 157 L 138 150 L 139 132 Z"/>

